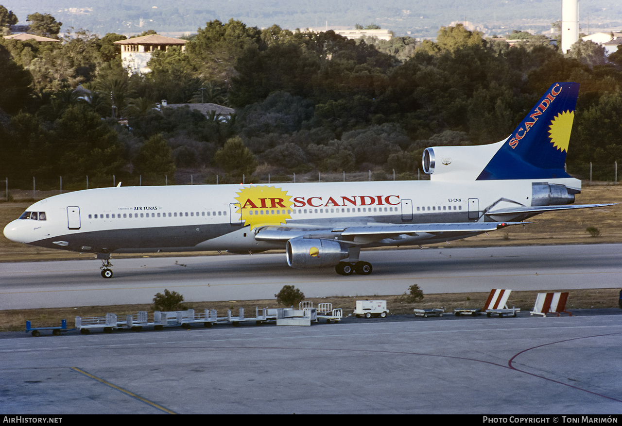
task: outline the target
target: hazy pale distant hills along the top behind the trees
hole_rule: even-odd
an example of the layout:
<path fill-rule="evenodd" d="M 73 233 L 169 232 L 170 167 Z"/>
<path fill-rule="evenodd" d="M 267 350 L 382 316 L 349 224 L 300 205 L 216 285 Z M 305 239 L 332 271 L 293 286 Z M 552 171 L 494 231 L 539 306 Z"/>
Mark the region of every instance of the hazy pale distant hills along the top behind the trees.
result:
<path fill-rule="evenodd" d="M 561 0 L 0 0 L 20 22 L 28 14 L 49 13 L 69 27 L 137 34 L 147 29 L 165 33 L 192 33 L 213 19 L 241 20 L 247 25 L 279 25 L 294 30 L 376 24 L 396 35 L 435 37 L 442 25 L 465 20 L 482 25 L 486 35 L 511 30 L 545 32 L 561 19 Z M 622 29 L 619 0 L 581 0 L 580 31 Z"/>

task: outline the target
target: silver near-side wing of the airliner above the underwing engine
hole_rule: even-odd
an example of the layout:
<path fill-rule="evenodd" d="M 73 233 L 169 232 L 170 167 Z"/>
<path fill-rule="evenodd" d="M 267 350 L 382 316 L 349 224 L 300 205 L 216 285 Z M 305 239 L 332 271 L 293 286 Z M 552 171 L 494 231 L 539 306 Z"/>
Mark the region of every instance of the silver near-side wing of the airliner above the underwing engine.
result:
<path fill-rule="evenodd" d="M 509 225 L 524 224 L 524 222 L 471 222 L 447 224 L 373 224 L 352 227 L 313 228 L 304 226 L 266 226 L 261 227 L 255 235 L 261 241 L 287 241 L 292 238 L 326 238 L 333 240 L 341 237 L 343 240 L 352 240 L 355 237 L 364 237 L 366 240 L 381 240 L 397 235 L 418 235 L 422 233 L 437 235 L 442 233 L 475 234 L 494 231 Z"/>

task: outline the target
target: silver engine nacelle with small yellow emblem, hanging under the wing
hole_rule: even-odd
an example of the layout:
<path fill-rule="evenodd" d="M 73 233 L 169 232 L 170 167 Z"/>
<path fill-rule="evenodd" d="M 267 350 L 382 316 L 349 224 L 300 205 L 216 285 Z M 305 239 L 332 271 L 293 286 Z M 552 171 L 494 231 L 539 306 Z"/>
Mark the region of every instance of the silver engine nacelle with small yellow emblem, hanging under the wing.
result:
<path fill-rule="evenodd" d="M 337 241 L 292 238 L 285 248 L 287 265 L 296 269 L 335 266 L 349 256 L 348 248 Z"/>

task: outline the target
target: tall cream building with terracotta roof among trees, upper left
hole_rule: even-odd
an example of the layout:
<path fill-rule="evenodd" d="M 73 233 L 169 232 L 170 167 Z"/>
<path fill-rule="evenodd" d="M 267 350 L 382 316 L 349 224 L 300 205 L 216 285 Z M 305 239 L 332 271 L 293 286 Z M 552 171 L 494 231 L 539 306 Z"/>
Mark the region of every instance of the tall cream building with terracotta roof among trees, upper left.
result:
<path fill-rule="evenodd" d="M 123 66 L 129 69 L 129 73 L 149 73 L 151 70 L 147 62 L 151 59 L 151 53 L 156 50 L 164 50 L 170 46 L 179 46 L 185 50 L 186 40 L 164 37 L 164 35 L 149 34 L 142 37 L 134 37 L 128 40 L 114 42 L 121 46 L 121 61 Z"/>

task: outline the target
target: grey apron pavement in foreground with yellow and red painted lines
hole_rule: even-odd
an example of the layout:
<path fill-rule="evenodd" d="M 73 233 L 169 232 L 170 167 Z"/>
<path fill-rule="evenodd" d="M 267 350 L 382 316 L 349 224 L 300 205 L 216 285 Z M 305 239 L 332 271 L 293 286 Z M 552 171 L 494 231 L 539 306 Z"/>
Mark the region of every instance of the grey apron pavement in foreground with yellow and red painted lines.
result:
<path fill-rule="evenodd" d="M 622 315 L 2 334 L 3 415 L 622 414 Z"/>

